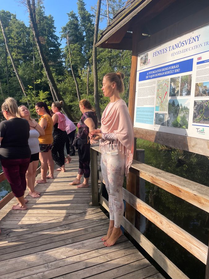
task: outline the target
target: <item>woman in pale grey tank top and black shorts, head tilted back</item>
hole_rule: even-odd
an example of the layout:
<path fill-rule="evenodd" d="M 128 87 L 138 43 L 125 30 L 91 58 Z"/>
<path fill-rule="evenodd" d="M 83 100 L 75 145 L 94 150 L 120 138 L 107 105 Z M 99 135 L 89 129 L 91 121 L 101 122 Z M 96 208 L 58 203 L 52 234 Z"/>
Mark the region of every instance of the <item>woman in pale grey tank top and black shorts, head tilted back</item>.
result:
<path fill-rule="evenodd" d="M 30 164 L 26 172 L 27 188 L 29 189 L 29 195 L 31 197 L 37 198 L 40 192 L 34 190 L 35 180 L 36 180 L 36 170 L 39 162 L 39 136 L 45 135 L 44 129 L 31 118 L 28 108 L 24 105 L 18 107 L 19 117 L 24 118 L 28 121 L 30 125 L 30 136 L 28 139 L 28 145 L 31 150 Z"/>

